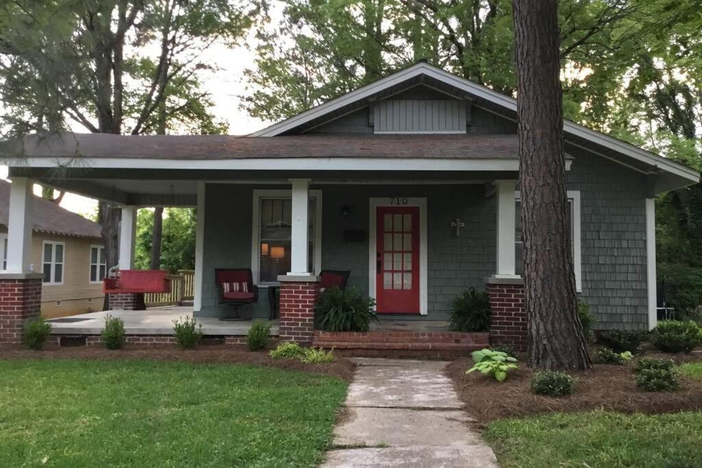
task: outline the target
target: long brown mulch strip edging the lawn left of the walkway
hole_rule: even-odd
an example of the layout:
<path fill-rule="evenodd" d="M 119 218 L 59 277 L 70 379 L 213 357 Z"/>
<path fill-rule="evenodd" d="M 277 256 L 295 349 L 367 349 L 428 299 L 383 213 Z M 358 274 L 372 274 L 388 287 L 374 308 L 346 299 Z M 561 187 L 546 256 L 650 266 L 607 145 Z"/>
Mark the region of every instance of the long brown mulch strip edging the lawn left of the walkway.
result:
<path fill-rule="evenodd" d="M 100 346 L 47 346 L 43 351 L 0 347 L 0 359 L 136 359 L 180 361 L 189 363 L 237 363 L 269 366 L 287 370 L 339 377 L 347 382 L 353 378 L 356 364 L 342 356 L 331 363 L 306 364 L 296 359 L 271 359 L 267 351 L 250 352 L 239 345 L 204 346 L 183 350 L 176 345 L 126 345 L 114 351 Z"/>

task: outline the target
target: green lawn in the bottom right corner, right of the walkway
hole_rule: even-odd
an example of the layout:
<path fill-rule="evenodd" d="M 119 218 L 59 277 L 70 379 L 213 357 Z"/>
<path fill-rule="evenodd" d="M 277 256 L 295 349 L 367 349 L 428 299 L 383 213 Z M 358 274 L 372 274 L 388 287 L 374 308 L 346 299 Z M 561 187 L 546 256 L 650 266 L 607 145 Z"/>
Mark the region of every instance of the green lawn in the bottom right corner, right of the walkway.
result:
<path fill-rule="evenodd" d="M 503 468 L 702 466 L 702 413 L 624 415 L 593 411 L 489 424 Z"/>

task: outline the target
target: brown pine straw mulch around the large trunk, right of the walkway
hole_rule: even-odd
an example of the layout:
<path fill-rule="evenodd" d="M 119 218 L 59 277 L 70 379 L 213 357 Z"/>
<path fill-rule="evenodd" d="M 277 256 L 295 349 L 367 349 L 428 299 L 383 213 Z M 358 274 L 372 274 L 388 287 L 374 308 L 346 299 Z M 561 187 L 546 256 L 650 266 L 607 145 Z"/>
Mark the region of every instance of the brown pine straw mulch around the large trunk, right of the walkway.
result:
<path fill-rule="evenodd" d="M 646 356 L 674 359 L 677 363 L 700 360 L 700 356 L 690 355 L 647 353 Z M 481 425 L 510 417 L 588 410 L 648 414 L 702 410 L 701 381 L 682 377 L 683 387 L 677 392 L 642 392 L 635 384 L 633 363 L 626 366 L 595 364 L 588 372 L 569 372 L 578 379 L 575 394 L 559 397 L 532 394 L 529 391 L 532 370 L 514 370 L 507 380 L 498 383 L 481 373 L 466 374 L 471 367 L 471 359 L 460 359 L 450 363 L 446 373 L 465 403 L 465 410 Z"/>

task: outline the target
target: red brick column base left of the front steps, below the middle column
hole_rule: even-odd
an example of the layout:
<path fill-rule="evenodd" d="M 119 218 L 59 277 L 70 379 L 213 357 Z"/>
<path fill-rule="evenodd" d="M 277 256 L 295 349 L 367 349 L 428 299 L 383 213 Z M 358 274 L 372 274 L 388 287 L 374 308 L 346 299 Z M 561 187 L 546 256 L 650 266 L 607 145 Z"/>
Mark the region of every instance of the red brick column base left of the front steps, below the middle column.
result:
<path fill-rule="evenodd" d="M 293 341 L 308 345 L 314 335 L 314 306 L 319 296 L 319 280 L 290 281 L 284 276 L 280 281 L 279 337 L 281 341 Z"/>

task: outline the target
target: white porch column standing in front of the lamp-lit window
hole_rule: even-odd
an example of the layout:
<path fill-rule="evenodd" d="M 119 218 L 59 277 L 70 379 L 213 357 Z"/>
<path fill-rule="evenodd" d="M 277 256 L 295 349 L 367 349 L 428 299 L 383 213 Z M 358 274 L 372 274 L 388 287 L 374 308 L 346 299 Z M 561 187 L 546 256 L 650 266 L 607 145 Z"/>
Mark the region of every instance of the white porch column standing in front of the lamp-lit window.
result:
<path fill-rule="evenodd" d="M 292 276 L 307 276 L 307 258 L 309 250 L 310 227 L 310 179 L 291 179 L 292 189 L 292 232 L 290 252 L 290 272 Z"/>

